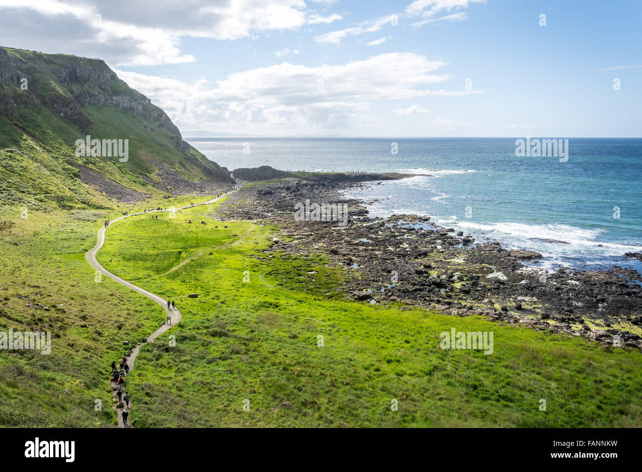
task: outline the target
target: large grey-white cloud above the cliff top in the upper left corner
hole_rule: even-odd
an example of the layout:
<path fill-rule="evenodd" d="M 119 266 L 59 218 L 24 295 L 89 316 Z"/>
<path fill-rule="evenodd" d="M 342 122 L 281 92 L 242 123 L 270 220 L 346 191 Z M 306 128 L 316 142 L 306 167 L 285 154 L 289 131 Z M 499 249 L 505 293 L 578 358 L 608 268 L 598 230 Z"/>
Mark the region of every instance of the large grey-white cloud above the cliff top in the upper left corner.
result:
<path fill-rule="evenodd" d="M 117 66 L 181 64 L 195 60 L 180 50 L 182 37 L 235 40 L 338 19 L 304 0 L 0 0 L 0 44 Z"/>

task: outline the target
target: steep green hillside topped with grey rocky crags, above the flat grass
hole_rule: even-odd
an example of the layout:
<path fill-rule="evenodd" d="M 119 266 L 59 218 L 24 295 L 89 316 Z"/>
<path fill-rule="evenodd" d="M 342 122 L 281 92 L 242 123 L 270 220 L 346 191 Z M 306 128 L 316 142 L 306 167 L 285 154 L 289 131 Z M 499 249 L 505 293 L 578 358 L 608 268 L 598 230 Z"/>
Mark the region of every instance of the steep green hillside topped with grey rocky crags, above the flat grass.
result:
<path fill-rule="evenodd" d="M 86 135 L 127 140 L 128 158 L 77 155 L 76 141 Z M 167 168 L 177 178 L 200 181 L 200 189 L 204 180 L 214 187 L 231 180 L 226 169 L 183 141 L 163 110 L 102 60 L 2 47 L 0 158 L 0 204 L 10 205 L 84 207 L 103 201 L 95 186 L 85 188 L 81 179 L 89 173 L 78 171 L 82 168 L 143 196 L 171 188 L 160 180 Z M 153 162 L 166 168 L 160 173 Z M 35 168 L 47 174 L 34 173 Z"/>

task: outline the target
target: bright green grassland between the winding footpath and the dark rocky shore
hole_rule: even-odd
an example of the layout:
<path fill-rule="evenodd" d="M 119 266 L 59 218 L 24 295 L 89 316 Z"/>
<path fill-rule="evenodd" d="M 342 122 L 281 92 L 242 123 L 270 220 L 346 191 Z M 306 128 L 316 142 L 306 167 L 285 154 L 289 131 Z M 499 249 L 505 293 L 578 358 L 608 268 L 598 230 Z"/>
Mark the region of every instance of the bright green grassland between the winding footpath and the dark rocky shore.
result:
<path fill-rule="evenodd" d="M 128 218 L 98 252 L 183 314 L 128 376 L 137 427 L 642 425 L 639 353 L 347 301 L 324 255 L 265 252 L 273 227 L 185 219 Z M 452 328 L 492 331 L 494 352 L 440 349 Z"/>

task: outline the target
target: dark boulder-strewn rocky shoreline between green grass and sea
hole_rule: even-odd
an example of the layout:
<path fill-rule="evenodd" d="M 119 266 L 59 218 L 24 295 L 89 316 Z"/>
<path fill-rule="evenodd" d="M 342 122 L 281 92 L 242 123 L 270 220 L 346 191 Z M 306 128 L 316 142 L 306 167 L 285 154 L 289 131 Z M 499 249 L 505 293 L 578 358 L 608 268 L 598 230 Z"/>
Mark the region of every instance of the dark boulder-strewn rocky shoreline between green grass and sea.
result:
<path fill-rule="evenodd" d="M 547 273 L 523 264 L 541 258 L 537 252 L 476 243 L 470 235 L 433 224 L 429 216 L 369 218 L 363 202 L 342 197 L 361 185 L 300 178 L 255 184 L 230 197 L 216 217 L 277 223 L 278 242 L 268 252 L 327 254 L 332 265 L 345 270 L 343 292 L 358 301 L 482 315 L 581 336 L 602 349 L 642 351 L 642 290 L 636 283 L 642 277 L 635 270 Z M 347 205 L 347 225 L 296 221 L 295 205 L 305 200 Z"/>

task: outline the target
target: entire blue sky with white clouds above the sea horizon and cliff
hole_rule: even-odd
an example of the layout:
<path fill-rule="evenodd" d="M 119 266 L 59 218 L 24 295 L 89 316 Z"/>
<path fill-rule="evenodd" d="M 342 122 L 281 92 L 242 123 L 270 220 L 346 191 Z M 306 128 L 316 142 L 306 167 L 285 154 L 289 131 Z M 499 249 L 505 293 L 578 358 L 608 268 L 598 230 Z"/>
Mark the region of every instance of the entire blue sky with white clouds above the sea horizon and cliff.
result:
<path fill-rule="evenodd" d="M 0 0 L 183 131 L 641 137 L 642 1 Z"/>

